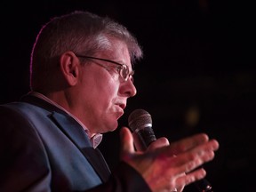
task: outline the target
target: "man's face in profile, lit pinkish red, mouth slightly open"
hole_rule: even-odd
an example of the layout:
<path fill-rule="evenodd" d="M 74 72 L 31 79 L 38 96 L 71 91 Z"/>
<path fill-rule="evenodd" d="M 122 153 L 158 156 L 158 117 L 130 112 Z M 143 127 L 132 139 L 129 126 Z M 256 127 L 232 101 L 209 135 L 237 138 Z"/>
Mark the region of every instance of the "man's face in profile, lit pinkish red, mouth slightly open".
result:
<path fill-rule="evenodd" d="M 112 41 L 108 51 L 93 57 L 123 63 L 132 71 L 126 44 L 120 41 Z M 117 119 L 124 114 L 127 99 L 136 94 L 132 80 L 124 81 L 117 67 L 120 66 L 108 61 L 90 59 L 81 68 L 76 89 L 76 116 L 92 135 L 116 130 Z"/>

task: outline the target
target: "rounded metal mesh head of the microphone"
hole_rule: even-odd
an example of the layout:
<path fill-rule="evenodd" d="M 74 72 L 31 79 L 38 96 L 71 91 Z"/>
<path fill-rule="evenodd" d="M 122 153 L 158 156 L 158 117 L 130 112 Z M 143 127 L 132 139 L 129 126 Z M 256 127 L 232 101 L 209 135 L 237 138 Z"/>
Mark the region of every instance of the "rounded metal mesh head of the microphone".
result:
<path fill-rule="evenodd" d="M 135 109 L 128 117 L 128 124 L 132 132 L 134 132 L 135 130 L 144 127 L 145 124 L 152 124 L 152 118 L 148 111 L 144 109 Z"/>

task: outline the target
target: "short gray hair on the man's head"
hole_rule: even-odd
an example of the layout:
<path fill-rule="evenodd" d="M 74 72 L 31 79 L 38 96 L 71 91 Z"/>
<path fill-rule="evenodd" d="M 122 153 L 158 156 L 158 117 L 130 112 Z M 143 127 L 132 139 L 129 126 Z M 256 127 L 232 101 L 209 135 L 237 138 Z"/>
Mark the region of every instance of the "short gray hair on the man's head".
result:
<path fill-rule="evenodd" d="M 115 20 L 83 11 L 52 18 L 39 31 L 31 52 L 31 90 L 51 84 L 54 65 L 63 52 L 93 55 L 108 48 L 107 36 L 127 45 L 132 63 L 142 58 L 135 36 Z"/>

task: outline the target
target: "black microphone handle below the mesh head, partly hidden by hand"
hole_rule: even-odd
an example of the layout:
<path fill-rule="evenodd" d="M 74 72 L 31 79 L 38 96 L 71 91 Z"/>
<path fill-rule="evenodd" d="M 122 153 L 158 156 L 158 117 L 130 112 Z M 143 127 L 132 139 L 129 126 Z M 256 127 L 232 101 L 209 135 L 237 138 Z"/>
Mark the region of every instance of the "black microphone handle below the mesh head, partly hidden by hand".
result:
<path fill-rule="evenodd" d="M 145 151 L 151 142 L 156 140 L 155 133 L 152 127 L 148 126 L 145 129 L 140 129 L 140 132 L 132 132 L 134 143 L 139 151 Z M 194 182 L 199 192 L 213 192 L 211 183 L 206 180 L 197 180 Z"/>

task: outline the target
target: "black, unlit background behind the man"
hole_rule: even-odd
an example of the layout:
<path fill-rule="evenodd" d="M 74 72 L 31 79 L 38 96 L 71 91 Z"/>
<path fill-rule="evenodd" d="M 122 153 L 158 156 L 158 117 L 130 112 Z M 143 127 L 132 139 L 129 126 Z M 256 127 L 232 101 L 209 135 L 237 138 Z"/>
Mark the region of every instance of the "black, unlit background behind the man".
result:
<path fill-rule="evenodd" d="M 253 191 L 255 170 L 255 20 L 253 7 L 213 0 L 8 1 L 1 3 L 0 103 L 28 92 L 30 51 L 53 16 L 87 10 L 121 22 L 137 36 L 145 57 L 135 67 L 138 94 L 126 115 L 148 110 L 157 137 L 170 141 L 206 132 L 220 141 L 205 164 L 215 192 Z M 110 168 L 119 136 L 106 133 L 100 148 Z M 186 191 L 196 191 L 188 186 Z"/>

